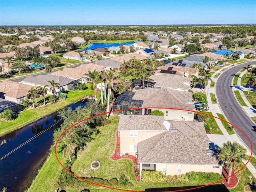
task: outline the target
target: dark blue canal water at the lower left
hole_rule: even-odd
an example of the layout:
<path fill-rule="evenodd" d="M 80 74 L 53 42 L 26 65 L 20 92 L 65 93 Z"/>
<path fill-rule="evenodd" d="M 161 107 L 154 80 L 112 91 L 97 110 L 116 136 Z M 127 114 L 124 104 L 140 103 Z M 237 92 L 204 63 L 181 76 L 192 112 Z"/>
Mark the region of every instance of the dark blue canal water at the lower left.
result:
<path fill-rule="evenodd" d="M 83 101 L 69 107 L 74 110 L 78 106 L 85 105 L 86 101 Z M 43 134 L 0 161 L 0 191 L 7 187 L 8 192 L 23 192 L 31 184 L 38 169 L 46 159 L 50 146 L 53 144 L 54 130 L 62 124 L 62 120 L 59 120 L 58 113 L 55 112 L 0 137 L 0 143 L 6 140 L 6 144 L 0 146 L 0 158 L 2 158 L 30 138 L 49 128 Z"/>

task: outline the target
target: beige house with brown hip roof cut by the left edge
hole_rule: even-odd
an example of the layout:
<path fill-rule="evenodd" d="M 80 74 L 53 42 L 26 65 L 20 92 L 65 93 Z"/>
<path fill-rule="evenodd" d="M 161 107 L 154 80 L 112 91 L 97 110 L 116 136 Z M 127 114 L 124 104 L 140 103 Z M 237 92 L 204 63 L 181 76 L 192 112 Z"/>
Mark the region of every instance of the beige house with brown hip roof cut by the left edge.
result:
<path fill-rule="evenodd" d="M 28 90 L 32 87 L 34 86 L 4 80 L 0 82 L 0 98 L 21 104 L 22 99 L 26 99 Z"/>

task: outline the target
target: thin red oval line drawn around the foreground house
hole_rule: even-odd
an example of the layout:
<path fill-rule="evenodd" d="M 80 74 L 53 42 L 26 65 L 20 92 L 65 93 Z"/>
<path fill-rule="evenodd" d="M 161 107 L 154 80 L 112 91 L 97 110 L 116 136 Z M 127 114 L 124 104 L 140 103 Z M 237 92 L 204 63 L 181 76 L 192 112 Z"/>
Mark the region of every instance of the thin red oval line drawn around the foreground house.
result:
<path fill-rule="evenodd" d="M 89 182 L 91 184 L 94 184 L 94 185 L 97 185 L 97 186 L 101 186 L 101 187 L 105 187 L 105 188 L 110 188 L 110 189 L 113 189 L 113 190 L 120 190 L 120 191 L 130 191 L 130 192 L 144 192 L 144 191 L 134 191 L 134 190 L 126 190 L 126 189 L 118 189 L 118 188 L 112 188 L 112 187 L 109 187 L 109 186 L 104 186 L 104 185 L 100 185 L 100 184 L 97 184 L 97 183 L 94 183 L 94 182 L 91 182 L 91 181 L 88 181 L 84 178 L 81 178 L 75 174 L 73 174 L 72 172 L 70 172 L 66 167 L 64 167 L 60 160 L 58 159 L 57 157 L 57 153 L 56 153 L 56 147 L 57 147 L 57 144 L 58 144 L 58 141 L 60 140 L 60 138 L 62 137 L 63 134 L 65 134 L 70 128 L 76 126 L 77 124 L 81 123 L 81 122 L 84 122 L 88 119 L 91 119 L 91 118 L 94 118 L 94 117 L 97 117 L 97 116 L 101 116 L 101 115 L 105 115 L 105 114 L 108 114 L 108 113 L 112 113 L 112 112 L 119 112 L 119 111 L 126 111 L 126 110 L 136 110 L 136 109 L 171 109 L 171 110 L 182 110 L 182 111 L 189 111 L 189 112 L 195 112 L 195 113 L 200 113 L 200 114 L 204 114 L 204 115 L 207 115 L 207 116 L 210 116 L 210 117 L 214 117 L 214 118 L 217 118 L 219 120 L 222 120 L 232 126 L 234 126 L 235 128 L 237 128 L 240 132 L 242 132 L 242 134 L 244 134 L 246 136 L 246 138 L 248 139 L 248 141 L 250 142 L 250 146 L 251 146 L 251 154 L 250 154 L 250 158 L 248 159 L 248 161 L 246 162 L 246 164 L 244 164 L 244 166 L 242 166 L 242 168 L 240 170 L 238 170 L 237 172 L 235 172 L 234 174 L 232 174 L 231 176 L 227 177 L 227 178 L 230 178 L 232 176 L 234 176 L 235 174 L 237 174 L 238 172 L 240 172 L 247 164 L 248 162 L 250 161 L 251 157 L 252 157 L 252 143 L 250 141 L 250 139 L 248 138 L 248 136 L 240 129 L 238 128 L 237 126 L 235 126 L 234 124 L 230 123 L 230 122 L 227 122 L 226 120 L 224 119 L 221 119 L 221 118 L 218 118 L 218 117 L 215 117 L 215 116 L 212 116 L 210 114 L 206 114 L 206 113 L 203 113 L 203 112 L 199 112 L 199 111 L 193 111 L 193 110 L 187 110 L 187 109 L 179 109 L 179 108 L 165 108 L 165 107 L 144 107 L 144 108 L 129 108 L 129 109 L 122 109 L 122 110 L 115 110 L 115 111 L 110 111 L 110 112 L 105 112 L 105 113 L 102 113 L 102 114 L 97 114 L 97 115 L 94 115 L 94 116 L 91 116 L 89 118 L 86 118 L 84 120 L 81 120 L 80 122 L 77 122 L 76 124 L 70 126 L 69 128 L 67 128 L 61 135 L 60 137 L 58 138 L 58 140 L 56 141 L 55 143 L 55 147 L 54 147 L 54 152 L 55 152 L 55 156 L 56 156 L 56 159 L 58 160 L 59 164 L 67 171 L 69 172 L 70 174 L 72 174 L 73 176 L 81 179 L 81 180 L 84 180 L 86 182 Z M 188 191 L 188 190 L 193 190 L 193 189 L 198 189 L 198 188 L 203 188 L 203 187 L 206 187 L 206 186 L 210 186 L 210 185 L 213 185 L 213 184 L 216 184 L 218 182 L 221 182 L 227 178 L 223 178 L 222 180 L 219 180 L 219 181 L 216 181 L 216 182 L 213 182 L 213 183 L 210 183 L 210 184 L 207 184 L 207 185 L 204 185 L 204 186 L 199 186 L 199 187 L 195 187 L 195 188 L 190 188 L 190 189 L 183 189 L 183 190 L 174 190 L 174 191 L 168 191 L 168 192 L 180 192 L 180 191 Z M 166 191 L 164 191 L 166 192 Z"/>

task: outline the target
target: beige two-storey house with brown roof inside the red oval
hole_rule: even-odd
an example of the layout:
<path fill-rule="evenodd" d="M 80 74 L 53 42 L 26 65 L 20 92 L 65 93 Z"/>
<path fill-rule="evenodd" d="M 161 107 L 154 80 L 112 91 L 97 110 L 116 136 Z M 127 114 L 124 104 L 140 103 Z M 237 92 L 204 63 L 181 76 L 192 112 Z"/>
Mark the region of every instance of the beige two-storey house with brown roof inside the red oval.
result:
<path fill-rule="evenodd" d="M 211 155 L 203 122 L 166 121 L 163 116 L 124 115 L 118 124 L 120 154 L 138 154 L 141 170 L 177 175 L 190 171 L 221 174 Z"/>

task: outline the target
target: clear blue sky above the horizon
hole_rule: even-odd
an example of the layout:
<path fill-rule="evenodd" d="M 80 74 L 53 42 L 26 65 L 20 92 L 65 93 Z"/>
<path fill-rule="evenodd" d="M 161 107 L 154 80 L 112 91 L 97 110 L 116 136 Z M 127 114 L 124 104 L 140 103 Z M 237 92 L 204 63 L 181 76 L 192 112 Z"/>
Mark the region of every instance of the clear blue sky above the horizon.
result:
<path fill-rule="evenodd" d="M 255 0 L 0 0 L 0 25 L 255 24 Z"/>

